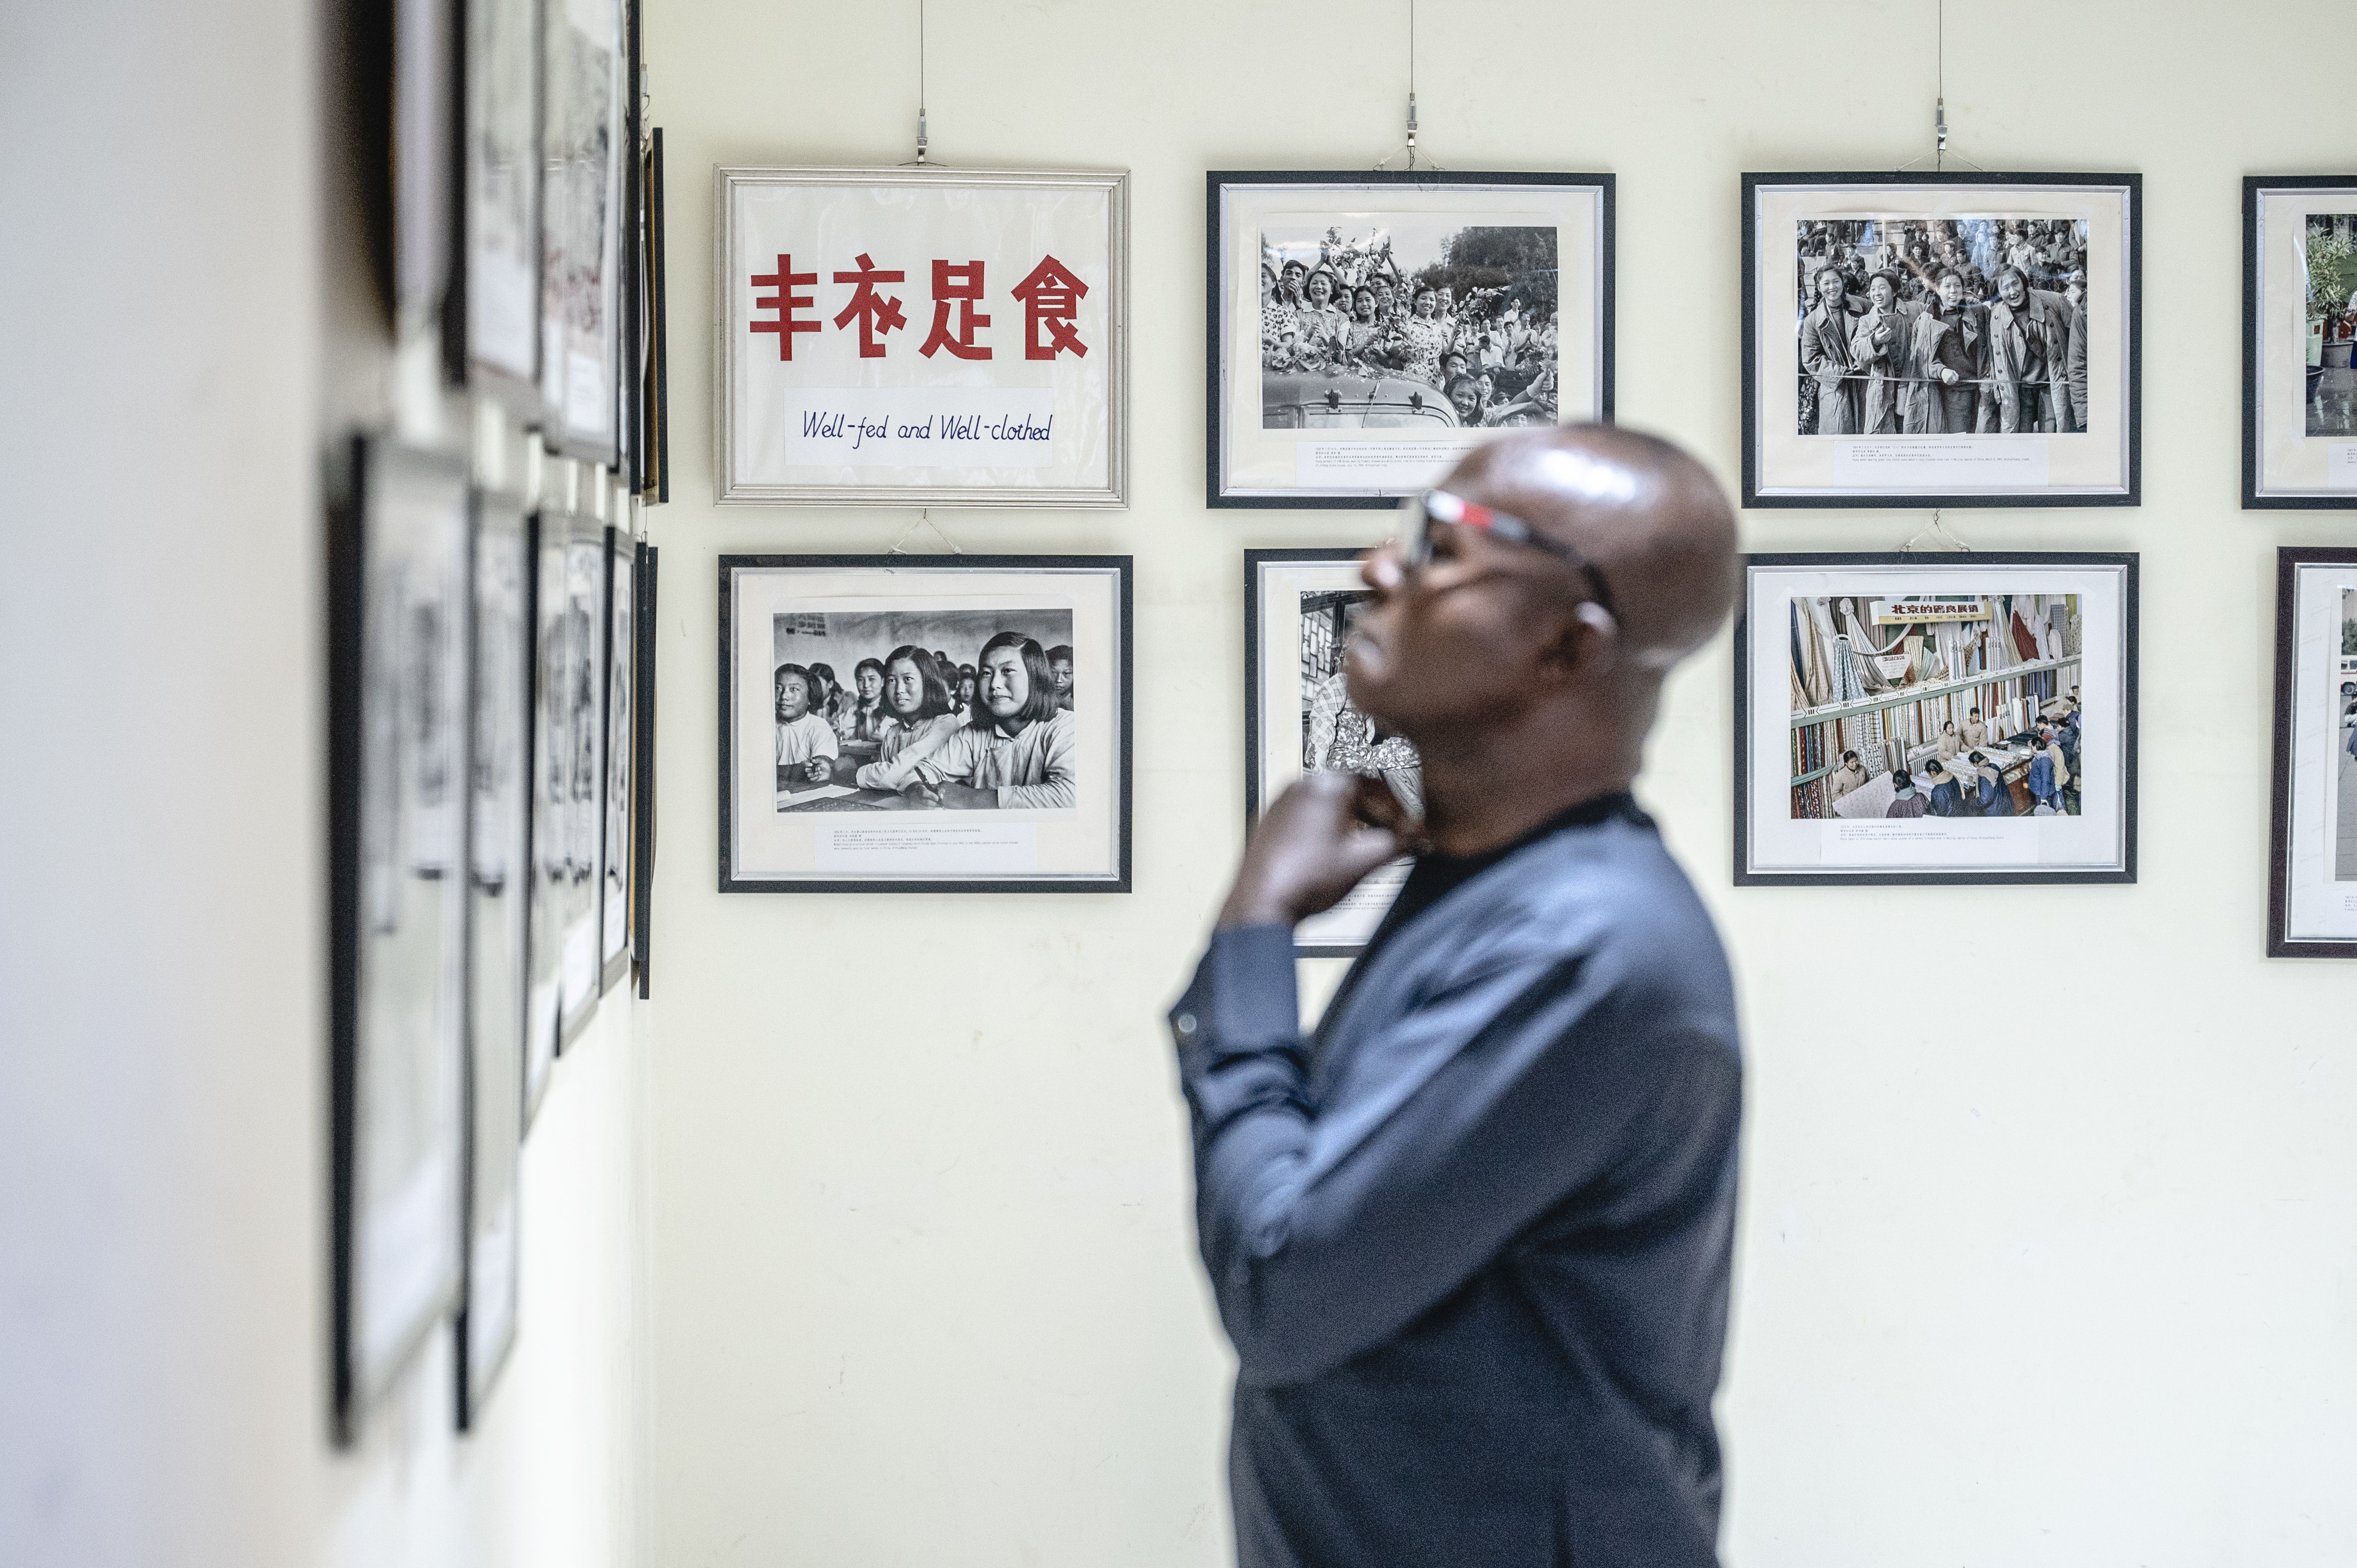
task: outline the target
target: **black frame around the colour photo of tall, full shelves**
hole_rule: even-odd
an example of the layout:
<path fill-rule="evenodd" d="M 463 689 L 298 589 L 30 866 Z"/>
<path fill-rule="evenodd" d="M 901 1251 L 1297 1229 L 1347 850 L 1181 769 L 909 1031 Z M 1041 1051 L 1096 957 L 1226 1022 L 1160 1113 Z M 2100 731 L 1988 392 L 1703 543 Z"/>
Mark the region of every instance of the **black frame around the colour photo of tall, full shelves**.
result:
<path fill-rule="evenodd" d="M 1763 552 L 1747 554 L 1742 597 L 1735 608 L 1735 887 L 2029 887 L 2029 884 L 2133 884 L 2135 882 L 2135 757 L 2138 757 L 2138 641 L 2140 582 L 2135 552 Z M 2117 870 L 1836 870 L 1777 872 L 1751 870 L 1751 578 L 1758 568 L 1867 568 L 1909 571 L 1954 568 L 1975 573 L 1994 566 L 2119 568 L 2121 575 L 2121 863 Z M 1772 679 L 1763 674 L 1761 679 Z"/>

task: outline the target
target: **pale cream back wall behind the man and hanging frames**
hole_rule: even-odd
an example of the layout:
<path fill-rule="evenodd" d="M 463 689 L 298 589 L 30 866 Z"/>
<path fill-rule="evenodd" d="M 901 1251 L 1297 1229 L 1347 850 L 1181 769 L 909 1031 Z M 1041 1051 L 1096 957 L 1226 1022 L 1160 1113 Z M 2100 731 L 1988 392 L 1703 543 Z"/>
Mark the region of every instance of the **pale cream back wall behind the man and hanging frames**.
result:
<path fill-rule="evenodd" d="M 1431 153 L 1619 174 L 1622 417 L 1732 483 L 1737 174 L 1926 153 L 1930 0 L 1419 14 Z M 1134 170 L 1134 509 L 933 521 L 1138 556 L 1138 891 L 714 894 L 714 556 L 884 549 L 915 514 L 712 507 L 709 172 L 907 158 L 917 7 L 651 0 L 660 1561 L 1216 1563 L 1226 1358 L 1157 1014 L 1240 844 L 1240 552 L 1381 521 L 1202 507 L 1202 174 L 1395 149 L 1405 2 L 931 19 L 938 158 Z M 1949 7 L 1956 153 L 2147 174 L 2147 505 L 1949 514 L 1982 547 L 2145 552 L 2143 882 L 1737 894 L 1725 639 L 1676 679 L 1640 792 L 1751 1047 L 1730 1561 L 2350 1561 L 2350 971 L 2260 957 L 2272 549 L 2350 523 L 2242 514 L 2234 467 L 2239 177 L 2357 163 L 2350 59 L 2350 7 Z M 1890 549 L 1923 521 L 1744 531 Z"/>

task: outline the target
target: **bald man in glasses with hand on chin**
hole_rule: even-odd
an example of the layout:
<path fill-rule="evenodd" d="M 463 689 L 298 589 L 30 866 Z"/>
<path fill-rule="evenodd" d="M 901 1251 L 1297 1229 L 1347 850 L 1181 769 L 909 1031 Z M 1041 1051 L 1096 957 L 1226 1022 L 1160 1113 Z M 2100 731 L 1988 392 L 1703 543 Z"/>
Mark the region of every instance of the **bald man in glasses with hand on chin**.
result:
<path fill-rule="evenodd" d="M 1424 818 L 1306 776 L 1171 1009 L 1237 1563 L 1716 1563 L 1735 995 L 1629 783 L 1732 601 L 1728 500 L 1664 441 L 1532 429 L 1362 578 L 1351 700 Z M 1292 927 L 1402 851 L 1303 1040 Z"/>

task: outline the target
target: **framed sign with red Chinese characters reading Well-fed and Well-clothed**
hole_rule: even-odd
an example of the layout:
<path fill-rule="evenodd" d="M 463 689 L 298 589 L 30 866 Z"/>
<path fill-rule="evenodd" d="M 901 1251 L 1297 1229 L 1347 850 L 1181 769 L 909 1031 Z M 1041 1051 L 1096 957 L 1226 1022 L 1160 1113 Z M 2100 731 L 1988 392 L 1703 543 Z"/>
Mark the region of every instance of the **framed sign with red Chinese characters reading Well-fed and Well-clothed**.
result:
<path fill-rule="evenodd" d="M 1129 174 L 719 170 L 721 505 L 1127 507 Z"/>

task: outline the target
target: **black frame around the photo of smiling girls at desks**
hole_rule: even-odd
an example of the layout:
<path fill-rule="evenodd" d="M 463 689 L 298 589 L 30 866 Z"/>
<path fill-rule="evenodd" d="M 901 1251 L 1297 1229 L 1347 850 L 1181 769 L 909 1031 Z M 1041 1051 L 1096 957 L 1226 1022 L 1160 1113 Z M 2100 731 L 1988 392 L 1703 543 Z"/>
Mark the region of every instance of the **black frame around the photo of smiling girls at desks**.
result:
<path fill-rule="evenodd" d="M 924 879 L 827 879 L 794 877 L 764 879 L 740 877 L 735 870 L 735 792 L 733 792 L 733 736 L 738 677 L 731 653 L 735 601 L 733 575 L 740 571 L 804 568 L 804 571 L 877 571 L 907 575 L 912 571 L 945 573 L 1058 573 L 1087 571 L 1115 578 L 1115 667 L 1117 667 L 1117 733 L 1113 747 L 1113 816 L 1115 816 L 1115 870 L 1113 875 L 1072 877 L 924 877 Z M 724 554 L 719 559 L 719 891 L 724 894 L 1127 894 L 1131 891 L 1131 740 L 1134 740 L 1134 556 L 1077 556 L 1077 554 L 1025 554 L 1025 556 L 823 556 L 823 554 Z"/>

